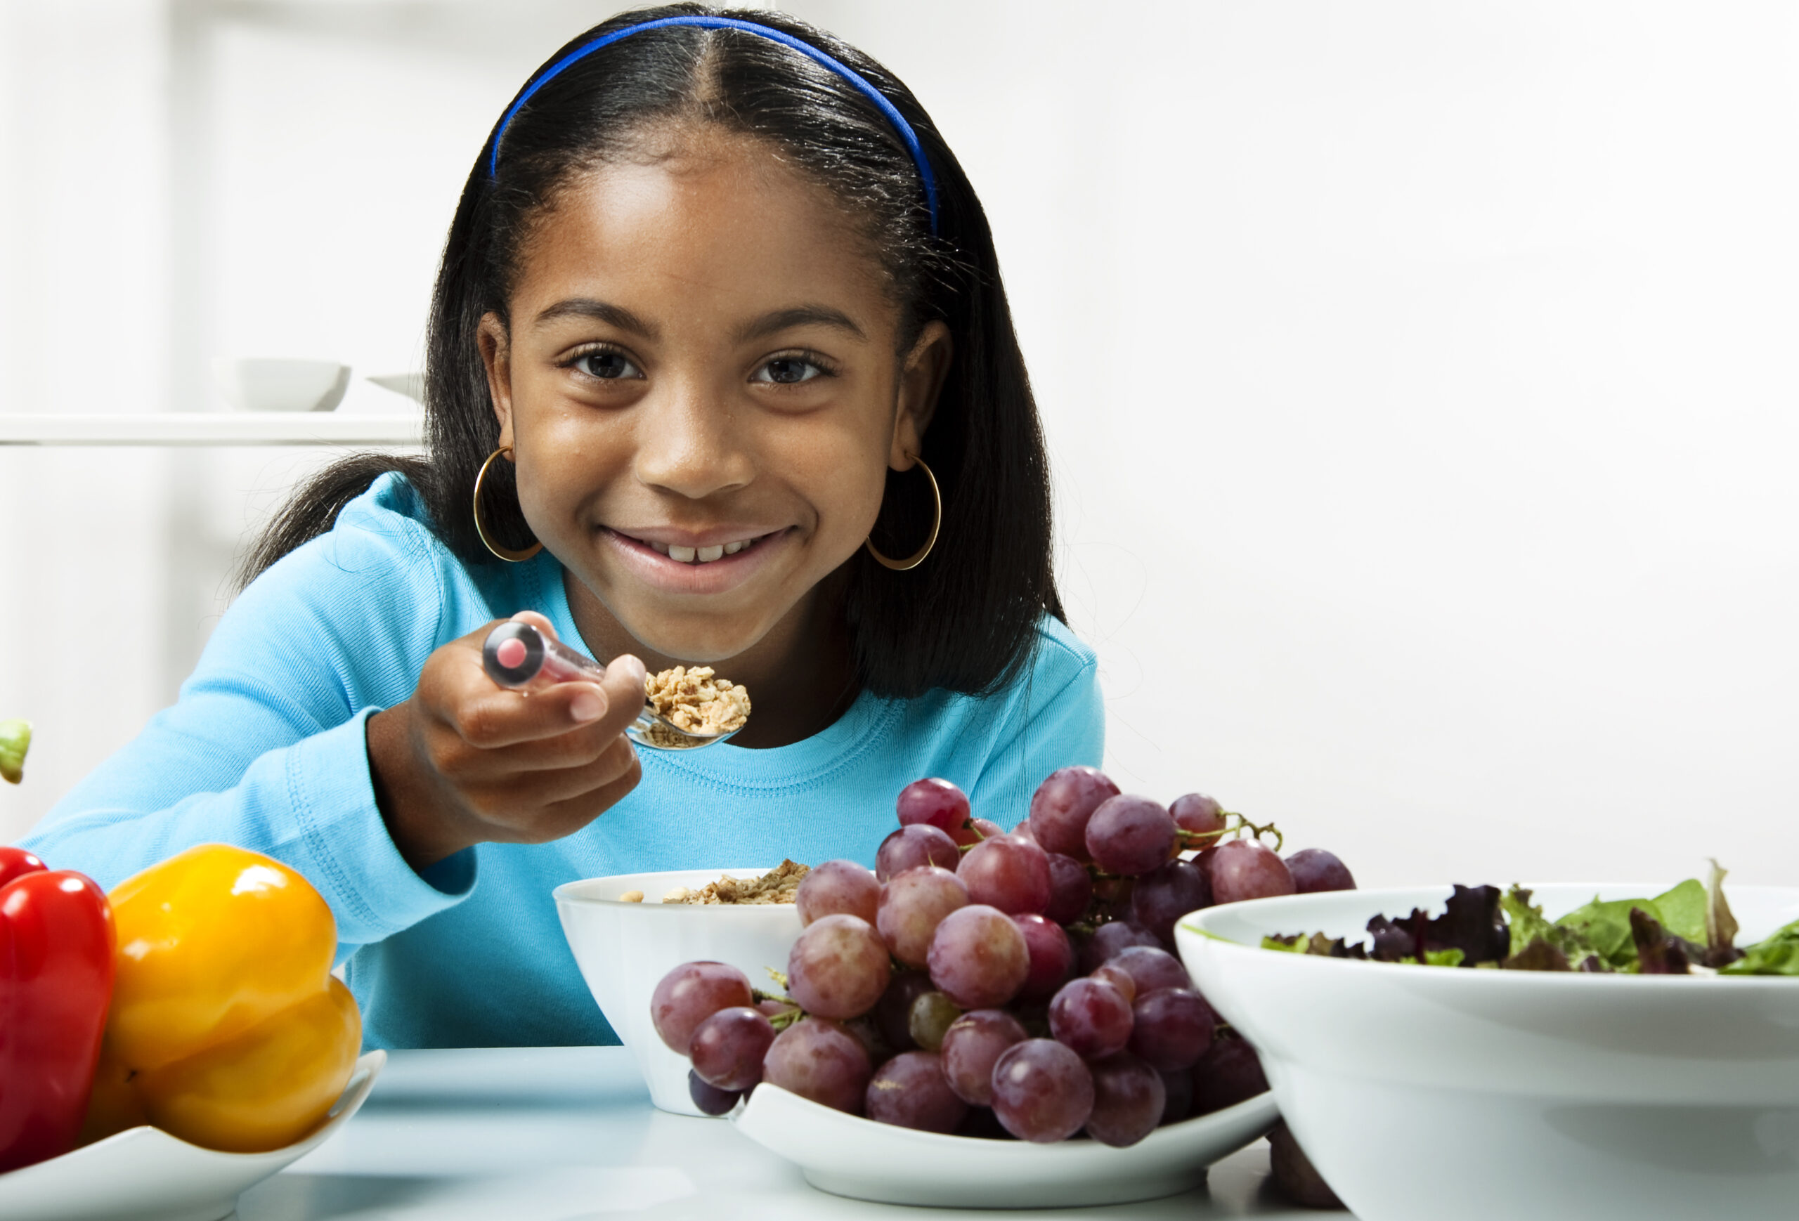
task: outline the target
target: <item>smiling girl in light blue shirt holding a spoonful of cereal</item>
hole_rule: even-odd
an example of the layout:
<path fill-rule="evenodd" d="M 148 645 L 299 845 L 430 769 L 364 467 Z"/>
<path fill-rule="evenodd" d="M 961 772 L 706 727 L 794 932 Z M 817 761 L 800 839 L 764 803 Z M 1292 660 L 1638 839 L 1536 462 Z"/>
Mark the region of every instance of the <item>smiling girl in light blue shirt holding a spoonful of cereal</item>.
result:
<path fill-rule="evenodd" d="M 29 840 L 108 887 L 201 842 L 288 861 L 371 1047 L 613 1043 L 556 885 L 869 861 L 917 777 L 1009 825 L 1099 762 L 986 218 L 820 31 L 644 9 L 533 77 L 444 245 L 428 432 L 295 496 L 180 701 Z M 497 687 L 507 615 L 604 680 Z M 676 662 L 754 714 L 639 753 Z"/>

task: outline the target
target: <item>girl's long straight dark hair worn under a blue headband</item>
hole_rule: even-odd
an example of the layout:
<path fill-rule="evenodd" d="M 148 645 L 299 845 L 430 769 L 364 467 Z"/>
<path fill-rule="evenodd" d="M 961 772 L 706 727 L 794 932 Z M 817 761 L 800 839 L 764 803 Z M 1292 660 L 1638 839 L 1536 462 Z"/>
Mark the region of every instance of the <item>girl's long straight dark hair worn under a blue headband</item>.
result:
<path fill-rule="evenodd" d="M 1027 662 L 1038 617 L 1049 611 L 1063 619 L 1063 611 L 1051 566 L 1043 435 L 980 201 L 898 77 L 855 47 L 779 13 L 698 4 L 637 9 L 572 40 L 545 68 L 608 31 L 675 14 L 768 25 L 867 77 L 917 131 L 937 176 L 937 234 L 930 232 L 917 167 L 892 124 L 853 85 L 801 52 L 741 31 L 691 25 L 604 47 L 518 111 L 491 180 L 488 153 L 498 133 L 489 135 L 462 187 L 432 295 L 428 460 L 365 453 L 333 464 L 270 523 L 241 575 L 248 583 L 329 530 L 338 511 L 383 471 L 407 477 L 437 536 L 464 565 L 500 563 L 482 547 L 470 512 L 475 473 L 498 444 L 477 324 L 489 311 L 506 318 L 533 221 L 572 174 L 628 151 L 630 140 L 657 122 L 702 120 L 775 146 L 862 223 L 901 307 L 901 351 L 925 322 L 948 325 L 955 351 L 923 453 L 943 489 L 937 545 L 910 572 L 889 572 L 856 552 L 846 619 L 860 687 L 901 698 L 934 687 L 989 692 Z M 511 464 L 493 466 L 482 507 L 495 541 L 529 545 Z M 930 530 L 930 514 L 925 480 L 889 471 L 876 547 L 889 556 L 912 552 Z"/>

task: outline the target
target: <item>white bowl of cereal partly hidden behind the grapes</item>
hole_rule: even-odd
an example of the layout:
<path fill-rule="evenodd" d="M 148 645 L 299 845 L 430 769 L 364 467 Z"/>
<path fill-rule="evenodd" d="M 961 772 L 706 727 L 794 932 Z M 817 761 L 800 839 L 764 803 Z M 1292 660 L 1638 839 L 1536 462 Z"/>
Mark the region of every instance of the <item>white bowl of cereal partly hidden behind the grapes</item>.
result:
<path fill-rule="evenodd" d="M 772 869 L 772 867 L 770 867 Z M 576 966 L 599 1011 L 617 1032 L 649 1099 L 675 1115 L 698 1115 L 687 1093 L 685 1056 L 678 1056 L 649 1021 L 649 994 L 682 962 L 729 962 L 750 976 L 752 987 L 777 991 L 765 967 L 786 971 L 786 955 L 799 937 L 792 903 L 687 905 L 657 903 L 675 887 L 698 890 L 721 874 L 761 878 L 768 869 L 684 869 L 667 874 L 615 874 L 556 887 L 556 912 Z M 619 896 L 642 890 L 642 903 Z"/>

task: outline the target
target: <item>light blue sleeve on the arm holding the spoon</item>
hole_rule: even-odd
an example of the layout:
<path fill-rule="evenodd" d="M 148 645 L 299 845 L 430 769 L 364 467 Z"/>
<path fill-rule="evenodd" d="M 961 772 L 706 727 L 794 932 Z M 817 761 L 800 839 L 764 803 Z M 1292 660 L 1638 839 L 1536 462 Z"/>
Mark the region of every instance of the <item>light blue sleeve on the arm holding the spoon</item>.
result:
<path fill-rule="evenodd" d="M 340 957 L 455 905 L 475 885 L 473 852 L 430 879 L 407 865 L 376 809 L 365 743 L 369 716 L 412 694 L 441 619 L 425 541 L 340 516 L 245 590 L 180 700 L 25 845 L 106 888 L 196 843 L 264 852 L 331 905 Z"/>

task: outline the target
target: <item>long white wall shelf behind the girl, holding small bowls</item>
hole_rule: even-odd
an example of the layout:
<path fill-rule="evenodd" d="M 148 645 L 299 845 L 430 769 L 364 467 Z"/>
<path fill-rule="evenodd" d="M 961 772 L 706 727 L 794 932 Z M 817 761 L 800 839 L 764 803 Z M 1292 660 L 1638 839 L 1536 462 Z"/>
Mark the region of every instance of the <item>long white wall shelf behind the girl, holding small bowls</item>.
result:
<path fill-rule="evenodd" d="M 423 415 L 333 412 L 164 412 L 23 415 L 0 412 L 0 446 L 412 446 Z"/>

